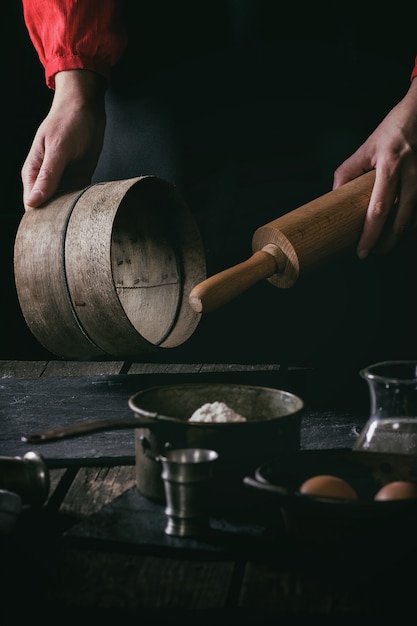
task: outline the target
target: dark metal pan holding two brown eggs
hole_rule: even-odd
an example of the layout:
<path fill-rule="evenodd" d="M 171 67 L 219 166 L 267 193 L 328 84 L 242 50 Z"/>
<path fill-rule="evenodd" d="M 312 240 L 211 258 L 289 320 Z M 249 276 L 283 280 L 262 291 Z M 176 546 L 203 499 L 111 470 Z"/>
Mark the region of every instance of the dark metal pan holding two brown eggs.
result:
<path fill-rule="evenodd" d="M 330 474 L 347 481 L 357 500 L 300 493 L 312 476 Z M 417 499 L 375 501 L 385 484 L 417 482 L 417 457 L 350 449 L 300 450 L 260 465 L 248 486 L 276 498 L 289 535 L 303 541 L 381 541 L 415 535 Z"/>

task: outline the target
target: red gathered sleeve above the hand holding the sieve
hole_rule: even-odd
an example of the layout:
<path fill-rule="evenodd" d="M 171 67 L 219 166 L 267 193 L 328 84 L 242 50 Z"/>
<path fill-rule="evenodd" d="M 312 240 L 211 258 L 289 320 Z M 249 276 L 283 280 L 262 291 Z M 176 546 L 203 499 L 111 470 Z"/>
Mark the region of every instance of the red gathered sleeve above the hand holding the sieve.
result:
<path fill-rule="evenodd" d="M 55 74 L 62 70 L 91 70 L 109 80 L 127 41 L 121 0 L 22 2 L 48 87 L 54 89 Z"/>

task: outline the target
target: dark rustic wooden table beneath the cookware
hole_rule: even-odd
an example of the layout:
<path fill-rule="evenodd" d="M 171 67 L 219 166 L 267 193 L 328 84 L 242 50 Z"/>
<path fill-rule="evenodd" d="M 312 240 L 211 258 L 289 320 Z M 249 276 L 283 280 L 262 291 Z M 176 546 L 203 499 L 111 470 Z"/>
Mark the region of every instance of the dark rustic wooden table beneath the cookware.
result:
<path fill-rule="evenodd" d="M 146 387 L 217 378 L 302 392 L 309 375 L 279 365 L 1 361 L 0 456 L 33 449 L 20 441 L 24 432 L 99 417 L 103 407 L 86 389 L 101 380 Z M 309 407 L 301 445 L 351 447 L 365 419 L 361 410 Z M 398 554 L 396 537 L 386 537 L 380 550 L 360 542 L 327 549 L 296 544 L 278 526 L 269 541 L 258 493 L 253 502 L 248 496 L 249 517 L 239 521 L 226 513 L 213 520 L 226 541 L 168 537 L 163 505 L 135 488 L 133 431 L 37 450 L 48 466 L 49 497 L 41 507 L 25 507 L 13 531 L 1 537 L 4 614 L 249 624 L 317 615 L 398 618 L 413 610 L 413 541 Z"/>

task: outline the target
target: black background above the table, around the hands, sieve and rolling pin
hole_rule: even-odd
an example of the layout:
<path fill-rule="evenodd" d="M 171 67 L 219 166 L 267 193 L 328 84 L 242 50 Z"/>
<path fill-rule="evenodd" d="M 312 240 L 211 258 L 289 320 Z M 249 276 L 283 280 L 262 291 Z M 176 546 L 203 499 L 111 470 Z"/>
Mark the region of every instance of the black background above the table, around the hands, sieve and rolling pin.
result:
<path fill-rule="evenodd" d="M 140 13 L 138 4 L 126 4 L 134 34 L 108 93 L 111 119 L 95 180 L 175 179 L 202 228 L 209 273 L 247 258 L 257 226 L 331 188 L 334 167 L 404 94 L 417 51 L 401 3 L 394 15 L 366 18 L 355 2 L 294 3 L 285 15 L 281 3 L 267 1 L 156 1 Z M 0 358 L 49 358 L 20 311 L 13 243 L 23 215 L 20 168 L 52 92 L 19 2 L 7 4 L 2 27 Z M 169 109 L 181 132 L 181 168 L 152 139 L 136 154 L 138 97 Z M 352 253 L 290 293 L 258 285 L 203 318 L 186 346 L 150 358 L 319 367 L 334 359 L 334 372 L 340 363 L 356 372 L 379 359 L 415 358 L 415 264 L 411 239 L 363 264 Z"/>

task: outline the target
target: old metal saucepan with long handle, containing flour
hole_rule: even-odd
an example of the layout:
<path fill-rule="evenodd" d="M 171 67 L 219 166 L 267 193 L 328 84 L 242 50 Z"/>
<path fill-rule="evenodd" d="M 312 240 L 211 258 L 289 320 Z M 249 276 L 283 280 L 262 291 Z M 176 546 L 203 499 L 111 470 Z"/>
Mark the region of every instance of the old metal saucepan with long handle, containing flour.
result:
<path fill-rule="evenodd" d="M 205 403 L 224 402 L 245 422 L 189 422 Z M 103 430 L 135 428 L 136 486 L 164 501 L 160 455 L 171 448 L 209 448 L 219 454 L 218 485 L 237 485 L 265 460 L 300 447 L 304 402 L 291 392 L 270 387 L 222 383 L 185 383 L 151 387 L 131 396 L 128 418 L 92 420 L 25 435 L 42 443 Z"/>

